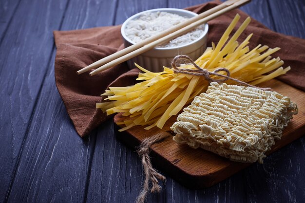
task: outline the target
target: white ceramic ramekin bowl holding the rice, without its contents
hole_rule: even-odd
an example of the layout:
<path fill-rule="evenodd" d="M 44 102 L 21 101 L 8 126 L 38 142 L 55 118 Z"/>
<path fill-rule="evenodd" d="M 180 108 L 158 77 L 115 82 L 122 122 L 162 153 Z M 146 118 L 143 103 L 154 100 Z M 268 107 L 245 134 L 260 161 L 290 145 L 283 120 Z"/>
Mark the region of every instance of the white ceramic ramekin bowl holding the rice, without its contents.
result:
<path fill-rule="evenodd" d="M 125 34 L 126 25 L 128 24 L 128 22 L 130 20 L 139 18 L 139 16 L 142 15 L 143 13 L 157 12 L 157 11 L 165 11 L 168 13 L 177 14 L 179 16 L 184 16 L 187 18 L 192 18 L 198 15 L 191 11 L 176 9 L 176 8 L 158 8 L 158 9 L 152 9 L 137 13 L 132 17 L 128 18 L 121 27 L 121 34 L 124 39 L 125 47 L 134 44 Z M 163 66 L 166 67 L 171 66 L 172 59 L 176 55 L 183 54 L 190 56 L 193 60 L 197 59 L 200 55 L 203 54 L 203 52 L 207 48 L 207 39 L 208 39 L 208 30 L 209 30 L 208 24 L 207 23 L 204 24 L 203 28 L 204 28 L 203 34 L 198 39 L 188 44 L 184 44 L 176 47 L 153 48 L 152 50 L 149 50 L 141 55 L 137 55 L 133 57 L 132 59 L 127 61 L 129 68 L 130 69 L 135 68 L 134 63 L 137 63 L 149 71 L 162 72 Z"/>

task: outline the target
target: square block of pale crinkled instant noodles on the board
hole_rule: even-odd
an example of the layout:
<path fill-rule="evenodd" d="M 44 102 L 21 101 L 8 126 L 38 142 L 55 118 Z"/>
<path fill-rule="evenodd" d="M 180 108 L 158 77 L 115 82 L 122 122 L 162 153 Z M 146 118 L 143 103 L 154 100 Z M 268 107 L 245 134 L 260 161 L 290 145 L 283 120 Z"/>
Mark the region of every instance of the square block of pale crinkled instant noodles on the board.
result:
<path fill-rule="evenodd" d="M 278 92 L 212 82 L 178 116 L 173 140 L 232 161 L 263 163 L 297 105 Z"/>

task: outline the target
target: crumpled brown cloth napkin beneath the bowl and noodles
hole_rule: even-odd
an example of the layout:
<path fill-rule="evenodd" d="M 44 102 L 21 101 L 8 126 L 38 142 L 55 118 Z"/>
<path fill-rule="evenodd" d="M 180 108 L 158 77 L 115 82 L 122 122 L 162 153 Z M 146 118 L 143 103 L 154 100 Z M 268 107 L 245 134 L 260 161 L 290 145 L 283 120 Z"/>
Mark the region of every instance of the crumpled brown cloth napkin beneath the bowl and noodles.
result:
<path fill-rule="evenodd" d="M 187 10 L 202 13 L 219 3 L 220 1 L 212 1 L 189 7 Z M 248 17 L 247 14 L 236 9 L 209 21 L 208 46 L 211 46 L 212 41 L 218 42 L 236 13 L 241 16 L 241 19 Z M 118 25 L 85 30 L 54 31 L 57 47 L 55 59 L 57 89 L 81 137 L 107 119 L 102 111 L 95 109 L 95 103 L 102 101 L 99 95 L 108 86 L 128 86 L 135 83 L 138 70 L 129 70 L 127 63 L 122 63 L 93 77 L 87 73 L 76 74 L 76 71 L 81 68 L 124 48 L 120 27 Z M 254 19 L 240 40 L 250 33 L 254 34 L 250 39 L 250 48 L 258 44 L 281 48 L 274 56 L 280 56 L 285 62 L 284 66 L 291 66 L 291 70 L 278 79 L 305 91 L 305 39 L 273 32 Z"/>

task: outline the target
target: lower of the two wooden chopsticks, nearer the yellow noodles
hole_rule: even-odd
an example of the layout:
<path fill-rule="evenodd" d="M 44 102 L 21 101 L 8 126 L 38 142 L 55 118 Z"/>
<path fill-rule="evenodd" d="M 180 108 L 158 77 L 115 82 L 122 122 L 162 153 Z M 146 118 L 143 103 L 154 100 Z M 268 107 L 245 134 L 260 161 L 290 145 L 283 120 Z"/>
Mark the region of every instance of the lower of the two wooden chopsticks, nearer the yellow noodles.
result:
<path fill-rule="evenodd" d="M 164 43 L 166 41 L 171 40 L 172 38 L 175 38 L 175 37 L 178 37 L 178 36 L 180 36 L 184 33 L 187 33 L 189 31 L 191 31 L 192 29 L 194 29 L 195 27 L 197 27 L 197 26 L 199 26 L 199 25 L 201 25 L 201 24 L 203 24 L 203 23 L 205 23 L 205 22 L 207 22 L 211 19 L 214 19 L 214 18 L 216 18 L 216 17 L 218 17 L 218 16 L 220 16 L 220 15 L 222 15 L 222 14 L 224 14 L 224 13 L 226 13 L 226 12 L 228 12 L 228 11 L 234 9 L 234 8 L 237 8 L 237 7 L 239 7 L 243 4 L 246 4 L 249 1 L 250 0 L 229 0 L 229 6 L 227 6 L 227 4 L 226 4 L 226 6 L 222 7 L 220 10 L 218 10 L 218 9 L 216 9 L 216 11 L 215 10 L 213 10 L 213 11 L 209 10 L 209 15 L 207 17 L 200 18 L 199 20 L 194 21 L 193 23 L 188 24 L 187 26 L 185 26 L 185 27 L 183 27 L 183 28 L 181 28 L 181 29 L 179 29 L 175 32 L 172 32 L 172 33 L 167 32 L 166 36 L 158 38 L 158 39 L 152 41 L 151 43 L 146 44 L 145 46 L 142 46 L 142 47 L 140 47 L 140 48 L 138 48 L 134 51 L 131 51 L 131 52 L 125 54 L 125 55 L 122 55 L 122 56 L 115 55 L 115 57 L 112 61 L 110 61 L 109 63 L 107 63 L 105 65 L 100 66 L 99 68 L 97 68 L 96 70 L 91 72 L 90 75 L 91 76 L 95 75 L 95 74 L 97 74 L 101 71 L 107 70 L 107 69 L 109 69 L 109 68 L 111 68 L 111 67 L 113 67 L 113 66 L 115 66 L 119 63 L 122 63 L 122 62 L 124 62 L 124 61 L 126 61 L 130 58 L 133 58 L 136 55 L 140 55 L 140 54 L 152 49 L 153 47 L 155 47 L 155 46 L 157 46 L 161 43 Z M 226 2 L 228 2 L 228 1 L 226 1 Z M 220 4 L 220 5 L 222 5 L 222 4 Z M 207 14 L 205 14 L 205 15 L 207 15 Z M 198 16 L 196 16 L 196 17 L 198 17 Z M 98 64 L 100 64 L 100 62 Z M 95 67 L 98 67 L 98 64 L 95 64 L 96 65 Z"/>

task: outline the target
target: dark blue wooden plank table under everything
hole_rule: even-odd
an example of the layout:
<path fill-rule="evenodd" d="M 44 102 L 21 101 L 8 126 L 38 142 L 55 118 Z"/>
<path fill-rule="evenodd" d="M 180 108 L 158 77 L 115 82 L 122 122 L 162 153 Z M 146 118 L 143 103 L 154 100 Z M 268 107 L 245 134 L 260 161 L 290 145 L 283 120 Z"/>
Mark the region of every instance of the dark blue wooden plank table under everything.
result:
<path fill-rule="evenodd" d="M 143 10 L 205 1 L 0 0 L 0 203 L 133 202 L 140 160 L 116 140 L 111 120 L 85 139 L 76 134 L 55 86 L 52 31 L 121 24 Z M 242 10 L 305 38 L 305 0 L 252 0 Z M 167 177 L 147 202 L 305 202 L 305 138 L 204 190 Z"/>

